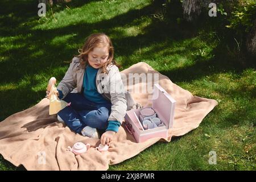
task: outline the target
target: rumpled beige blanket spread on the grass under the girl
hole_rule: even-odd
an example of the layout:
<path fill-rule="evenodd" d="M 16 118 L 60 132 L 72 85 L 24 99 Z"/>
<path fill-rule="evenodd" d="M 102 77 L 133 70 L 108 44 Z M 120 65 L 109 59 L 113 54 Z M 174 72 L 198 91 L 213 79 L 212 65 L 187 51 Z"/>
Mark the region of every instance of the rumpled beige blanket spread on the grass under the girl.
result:
<path fill-rule="evenodd" d="M 158 72 L 146 63 L 137 63 L 122 73 Z M 168 142 L 172 136 L 196 129 L 217 105 L 215 100 L 193 96 L 164 75 L 159 75 L 159 85 L 177 101 L 174 126 L 166 139 Z M 142 106 L 147 104 L 148 94 L 133 93 L 132 96 Z M 64 123 L 57 121 L 56 115 L 49 115 L 48 109 L 49 100 L 44 98 L 35 106 L 0 122 L 0 153 L 3 158 L 15 166 L 22 164 L 28 170 L 106 170 L 109 165 L 121 163 L 160 140 L 153 138 L 136 143 L 122 125 L 109 150 L 99 152 L 95 150 L 100 143 L 98 139 L 73 133 Z M 79 141 L 92 147 L 85 154 L 75 156 L 67 148 Z"/>

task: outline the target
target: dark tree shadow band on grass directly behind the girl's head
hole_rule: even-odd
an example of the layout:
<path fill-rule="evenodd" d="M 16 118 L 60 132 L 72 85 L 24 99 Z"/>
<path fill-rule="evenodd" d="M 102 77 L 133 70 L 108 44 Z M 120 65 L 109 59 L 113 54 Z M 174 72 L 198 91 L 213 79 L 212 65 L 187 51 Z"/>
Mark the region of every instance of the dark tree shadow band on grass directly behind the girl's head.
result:
<path fill-rule="evenodd" d="M 148 14 L 154 13 L 155 6 L 154 4 L 143 7 L 139 10 L 130 10 L 125 14 L 115 16 L 109 20 L 102 20 L 101 22 L 89 24 L 80 22 L 75 25 L 69 25 L 67 27 L 55 28 L 51 30 L 24 30 L 24 28 L 19 28 L 20 36 L 16 38 L 14 42 L 22 46 L 17 48 L 9 48 L 6 51 L 1 51 L 2 55 L 7 55 L 5 61 L 0 62 L 0 67 L 3 72 L 1 75 L 1 82 L 11 82 L 16 81 L 24 75 L 35 75 L 35 73 L 40 73 L 42 68 L 48 69 L 51 67 L 56 67 L 58 65 L 64 66 L 63 60 L 72 59 L 71 55 L 74 55 L 74 49 L 70 47 L 75 47 L 75 45 L 82 46 L 85 35 L 91 34 L 94 30 L 105 32 L 106 34 L 113 35 L 112 41 L 114 47 L 118 47 L 116 53 L 122 56 L 131 56 L 134 51 L 137 51 L 140 47 L 146 47 L 154 45 L 159 42 L 163 42 L 168 39 L 171 41 L 182 40 L 192 35 L 189 35 L 189 31 L 177 31 L 179 27 L 169 27 L 163 22 L 154 20 L 150 25 L 143 28 L 144 34 L 139 34 L 137 36 L 125 36 L 122 32 L 114 30 L 116 27 L 123 27 L 129 24 L 130 26 L 135 25 L 133 23 L 135 19 L 139 19 L 142 16 L 147 16 Z M 104 28 L 102 28 L 104 27 Z M 29 32 L 29 36 L 27 36 Z M 185 34 L 185 32 L 187 34 Z M 65 44 L 52 44 L 51 41 L 56 37 L 66 36 L 75 34 L 65 40 Z M 170 36 L 171 35 L 171 36 Z M 26 42 L 26 43 L 24 43 Z M 139 43 L 139 44 L 138 44 Z M 76 46 L 77 47 L 77 46 Z M 129 47 L 129 49 L 127 49 Z M 36 53 L 40 51 L 38 56 Z M 146 53 L 145 56 L 154 55 L 158 49 L 152 50 L 150 54 Z M 43 55 L 43 56 L 42 56 Z M 31 64 L 32 60 L 33 64 Z M 54 60 L 54 61 L 52 61 Z M 15 68 L 10 68 L 10 64 L 13 64 Z M 124 67 L 128 67 L 130 61 L 123 63 Z M 46 65 L 50 65 L 46 67 Z M 7 76 L 5 73 L 8 72 Z"/>

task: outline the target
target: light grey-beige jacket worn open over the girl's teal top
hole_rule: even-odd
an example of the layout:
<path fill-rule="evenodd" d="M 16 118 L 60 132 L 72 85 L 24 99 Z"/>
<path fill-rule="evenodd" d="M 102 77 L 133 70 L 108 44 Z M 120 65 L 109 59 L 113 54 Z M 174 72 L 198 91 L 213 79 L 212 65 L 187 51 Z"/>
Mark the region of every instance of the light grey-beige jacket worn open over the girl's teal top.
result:
<path fill-rule="evenodd" d="M 72 91 L 77 93 L 82 92 L 84 72 L 85 65 L 80 64 L 78 57 L 74 57 L 64 78 L 57 86 L 57 89 L 63 92 L 63 98 Z M 119 121 L 122 123 L 126 110 L 138 109 L 141 105 L 134 102 L 130 93 L 125 92 L 122 78 L 116 65 L 110 64 L 107 67 L 107 73 L 101 72 L 102 68 L 98 69 L 96 86 L 98 93 L 101 93 L 106 100 L 112 103 L 108 121 Z"/>

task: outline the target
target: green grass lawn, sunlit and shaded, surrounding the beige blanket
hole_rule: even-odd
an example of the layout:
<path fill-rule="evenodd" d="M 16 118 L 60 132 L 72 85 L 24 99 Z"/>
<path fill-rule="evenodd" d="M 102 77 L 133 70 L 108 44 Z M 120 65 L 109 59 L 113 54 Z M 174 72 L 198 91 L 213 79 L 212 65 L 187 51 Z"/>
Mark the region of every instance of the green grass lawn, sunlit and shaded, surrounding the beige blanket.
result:
<path fill-rule="evenodd" d="M 86 36 L 105 32 L 122 69 L 144 61 L 192 94 L 218 101 L 196 130 L 110 170 L 256 169 L 255 67 L 226 52 L 216 32 L 155 18 L 162 5 L 150 0 L 73 0 L 46 18 L 37 16 L 35 2 L 0 2 L 0 121 L 42 100 L 49 77 L 63 78 Z M 208 163 L 210 151 L 216 165 Z M 0 169 L 23 168 L 0 156 Z"/>

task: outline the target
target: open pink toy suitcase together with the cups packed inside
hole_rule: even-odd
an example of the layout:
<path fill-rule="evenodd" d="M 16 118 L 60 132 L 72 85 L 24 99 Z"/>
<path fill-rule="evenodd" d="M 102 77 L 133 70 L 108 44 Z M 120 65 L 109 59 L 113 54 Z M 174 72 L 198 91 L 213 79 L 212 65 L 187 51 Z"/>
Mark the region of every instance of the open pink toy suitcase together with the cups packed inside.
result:
<path fill-rule="evenodd" d="M 125 126 L 135 140 L 168 137 L 168 129 L 174 122 L 176 101 L 159 84 L 154 84 L 152 106 L 126 111 Z"/>

